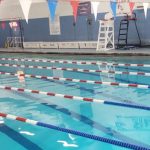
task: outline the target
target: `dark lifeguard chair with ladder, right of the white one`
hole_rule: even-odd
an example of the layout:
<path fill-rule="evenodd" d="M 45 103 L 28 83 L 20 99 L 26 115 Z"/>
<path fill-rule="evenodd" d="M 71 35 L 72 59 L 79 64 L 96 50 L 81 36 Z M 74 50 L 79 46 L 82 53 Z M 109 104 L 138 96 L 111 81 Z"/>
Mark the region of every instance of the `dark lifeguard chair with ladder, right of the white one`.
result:
<path fill-rule="evenodd" d="M 136 17 L 136 13 L 133 13 L 131 16 L 125 14 L 125 17 L 120 21 L 117 48 L 123 48 L 123 49 L 135 48 L 135 45 L 128 44 L 128 35 L 129 35 L 128 31 L 129 31 L 129 25 L 131 21 L 134 22 L 138 40 L 139 40 L 139 43 L 135 45 L 141 46 L 141 38 L 137 27 L 137 17 Z"/>

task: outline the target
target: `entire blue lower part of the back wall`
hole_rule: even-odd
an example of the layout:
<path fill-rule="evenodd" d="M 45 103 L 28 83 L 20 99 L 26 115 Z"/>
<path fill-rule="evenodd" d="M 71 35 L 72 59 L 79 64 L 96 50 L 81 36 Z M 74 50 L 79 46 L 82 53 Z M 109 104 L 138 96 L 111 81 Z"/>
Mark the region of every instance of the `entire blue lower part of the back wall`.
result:
<path fill-rule="evenodd" d="M 148 11 L 147 19 L 144 18 L 143 10 L 138 10 L 137 21 L 139 33 L 142 43 L 150 42 L 150 11 Z M 76 25 L 73 26 L 73 16 L 60 17 L 61 35 L 50 35 L 49 19 L 30 19 L 27 24 L 25 20 L 21 21 L 23 26 L 23 34 L 25 41 L 88 41 L 97 40 L 99 23 L 95 22 L 94 16 L 91 16 L 91 25 L 87 22 L 87 17 L 79 16 Z M 104 18 L 104 14 L 98 14 L 98 19 Z M 115 19 L 115 39 L 117 39 L 120 17 Z M 135 32 L 133 22 L 130 23 L 129 39 L 130 43 L 138 43 L 137 33 Z M 0 29 L 0 47 L 4 47 L 4 43 L 8 36 L 15 36 L 15 33 L 10 29 L 7 22 L 6 29 Z M 19 35 L 19 33 L 18 33 Z"/>

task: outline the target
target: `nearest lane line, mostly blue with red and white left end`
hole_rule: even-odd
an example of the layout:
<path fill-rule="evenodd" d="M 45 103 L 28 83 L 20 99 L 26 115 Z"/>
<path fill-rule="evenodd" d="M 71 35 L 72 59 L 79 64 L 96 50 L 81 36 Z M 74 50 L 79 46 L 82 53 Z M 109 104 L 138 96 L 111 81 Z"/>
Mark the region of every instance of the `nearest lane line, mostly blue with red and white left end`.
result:
<path fill-rule="evenodd" d="M 92 140 L 96 140 L 96 141 L 100 141 L 103 143 L 107 143 L 107 144 L 111 144 L 111 145 L 115 145 L 115 146 L 120 146 L 120 147 L 124 147 L 124 148 L 128 148 L 128 149 L 149 150 L 146 147 L 142 147 L 142 146 L 138 146 L 138 145 L 122 142 L 122 141 L 117 141 L 117 140 L 113 140 L 113 139 L 108 139 L 108 138 L 97 136 L 97 135 L 91 135 L 91 134 L 80 132 L 77 130 L 66 129 L 66 128 L 54 126 L 51 124 L 43 123 L 40 121 L 31 120 L 31 119 L 27 119 L 24 117 L 6 114 L 6 113 L 2 113 L 2 112 L 0 112 L 0 117 L 5 118 L 5 119 L 9 119 L 9 120 L 13 120 L 13 121 L 23 122 L 23 123 L 34 125 L 34 126 L 40 126 L 43 128 L 48 128 L 48 129 L 52 129 L 52 130 L 56 130 L 56 131 L 60 131 L 60 132 L 64 132 L 64 133 L 70 133 L 70 134 L 77 135 L 80 137 L 85 137 L 88 139 L 92 139 Z"/>

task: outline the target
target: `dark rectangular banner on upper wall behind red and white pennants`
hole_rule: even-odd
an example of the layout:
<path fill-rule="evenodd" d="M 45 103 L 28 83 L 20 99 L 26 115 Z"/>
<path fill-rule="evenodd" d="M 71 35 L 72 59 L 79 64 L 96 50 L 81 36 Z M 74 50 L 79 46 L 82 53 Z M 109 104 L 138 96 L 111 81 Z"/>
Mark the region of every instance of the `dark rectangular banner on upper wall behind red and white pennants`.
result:
<path fill-rule="evenodd" d="M 78 6 L 78 15 L 84 16 L 91 14 L 91 2 L 82 2 Z"/>

